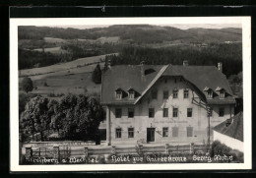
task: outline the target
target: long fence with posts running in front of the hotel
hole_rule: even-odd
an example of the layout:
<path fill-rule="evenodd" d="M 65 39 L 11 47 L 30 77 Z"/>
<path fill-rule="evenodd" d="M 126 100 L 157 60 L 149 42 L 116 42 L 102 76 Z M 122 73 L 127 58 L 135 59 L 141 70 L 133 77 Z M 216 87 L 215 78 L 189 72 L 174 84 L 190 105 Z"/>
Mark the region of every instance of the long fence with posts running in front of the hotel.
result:
<path fill-rule="evenodd" d="M 144 153 L 197 153 L 207 152 L 207 145 L 162 145 L 162 146 L 149 146 L 149 145 L 137 145 L 132 147 L 101 147 L 101 148 L 89 148 L 89 147 L 59 147 L 53 146 L 52 148 L 32 148 L 32 146 L 26 147 L 26 156 L 28 157 L 54 157 L 54 158 L 66 158 L 66 157 L 79 157 L 90 155 L 103 155 L 103 154 L 144 154 Z"/>

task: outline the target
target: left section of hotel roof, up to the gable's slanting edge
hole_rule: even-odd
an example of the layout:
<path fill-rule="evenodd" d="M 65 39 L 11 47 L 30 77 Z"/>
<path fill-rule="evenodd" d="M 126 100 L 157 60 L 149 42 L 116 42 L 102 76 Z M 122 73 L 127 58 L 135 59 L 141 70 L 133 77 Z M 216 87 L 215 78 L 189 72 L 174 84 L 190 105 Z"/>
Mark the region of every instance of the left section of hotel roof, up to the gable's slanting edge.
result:
<path fill-rule="evenodd" d="M 153 69 L 156 72 L 142 76 L 140 65 L 111 66 L 111 69 L 108 69 L 102 75 L 101 103 L 133 104 L 137 98 L 129 100 L 128 97 L 125 97 L 121 100 L 116 100 L 114 90 L 118 88 L 123 90 L 134 89 L 139 94 L 142 94 L 157 77 L 162 67 L 162 65 L 144 65 L 144 70 Z"/>

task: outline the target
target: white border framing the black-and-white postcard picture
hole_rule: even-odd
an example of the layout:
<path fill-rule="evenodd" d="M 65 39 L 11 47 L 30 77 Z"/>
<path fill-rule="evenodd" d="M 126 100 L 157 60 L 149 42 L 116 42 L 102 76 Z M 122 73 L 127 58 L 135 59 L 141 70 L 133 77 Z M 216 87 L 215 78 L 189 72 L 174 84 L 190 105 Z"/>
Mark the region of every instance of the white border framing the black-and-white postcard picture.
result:
<path fill-rule="evenodd" d="M 243 50 L 244 163 L 159 163 L 19 165 L 18 26 L 80 26 L 128 24 L 241 24 Z M 251 18 L 59 18 L 10 19 L 10 170 L 11 171 L 104 171 L 104 170 L 216 170 L 251 169 Z"/>

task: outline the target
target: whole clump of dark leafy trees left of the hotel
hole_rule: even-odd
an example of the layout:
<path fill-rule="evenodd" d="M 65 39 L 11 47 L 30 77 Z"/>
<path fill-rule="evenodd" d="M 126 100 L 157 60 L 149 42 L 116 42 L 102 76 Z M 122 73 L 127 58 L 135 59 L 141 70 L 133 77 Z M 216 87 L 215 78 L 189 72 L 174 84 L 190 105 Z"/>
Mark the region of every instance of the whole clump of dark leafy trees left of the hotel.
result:
<path fill-rule="evenodd" d="M 35 96 L 21 113 L 20 133 L 22 136 L 40 133 L 44 141 L 44 131 L 52 130 L 63 140 L 94 141 L 103 119 L 103 108 L 94 96 L 68 94 L 60 101 Z"/>

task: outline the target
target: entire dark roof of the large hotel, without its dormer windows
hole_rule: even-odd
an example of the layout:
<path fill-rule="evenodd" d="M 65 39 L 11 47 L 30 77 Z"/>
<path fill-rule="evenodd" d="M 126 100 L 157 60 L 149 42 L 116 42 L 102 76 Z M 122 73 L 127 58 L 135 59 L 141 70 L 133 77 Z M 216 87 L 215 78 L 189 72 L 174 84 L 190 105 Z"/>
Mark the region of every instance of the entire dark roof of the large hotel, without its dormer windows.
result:
<path fill-rule="evenodd" d="M 142 75 L 140 65 L 119 65 L 112 66 L 102 75 L 101 84 L 101 103 L 102 104 L 135 104 L 140 98 L 151 89 L 160 77 L 183 77 L 192 84 L 200 93 L 205 95 L 204 89 L 222 88 L 225 90 L 226 97 L 219 99 L 218 96 L 207 99 L 209 104 L 235 103 L 232 91 L 222 72 L 215 66 L 172 66 L 172 65 L 144 65 L 144 71 L 153 69 L 148 75 Z M 139 96 L 135 100 L 123 98 L 115 99 L 115 89 L 135 89 Z"/>

